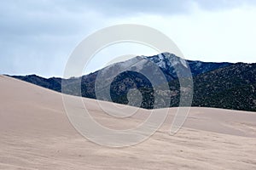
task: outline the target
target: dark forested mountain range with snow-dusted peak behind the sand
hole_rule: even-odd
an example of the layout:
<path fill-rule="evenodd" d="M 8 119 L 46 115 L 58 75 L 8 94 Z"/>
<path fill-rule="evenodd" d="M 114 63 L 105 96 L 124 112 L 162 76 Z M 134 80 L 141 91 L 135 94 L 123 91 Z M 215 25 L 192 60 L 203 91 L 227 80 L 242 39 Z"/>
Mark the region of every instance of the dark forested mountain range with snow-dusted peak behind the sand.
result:
<path fill-rule="evenodd" d="M 153 109 L 178 106 L 178 77 L 192 76 L 192 106 L 256 111 L 256 64 L 186 61 L 175 54 L 163 53 L 137 56 L 83 77 L 14 77 L 58 92 L 62 82 L 65 94 Z"/>

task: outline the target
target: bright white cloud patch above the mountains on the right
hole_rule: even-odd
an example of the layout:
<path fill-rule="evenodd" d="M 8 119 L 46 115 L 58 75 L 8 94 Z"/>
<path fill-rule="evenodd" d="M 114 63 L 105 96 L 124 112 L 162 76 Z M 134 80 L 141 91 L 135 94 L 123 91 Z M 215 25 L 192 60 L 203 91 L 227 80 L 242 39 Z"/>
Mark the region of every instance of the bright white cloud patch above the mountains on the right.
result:
<path fill-rule="evenodd" d="M 187 59 L 256 62 L 256 7 L 207 11 L 195 6 L 192 14 L 148 15 L 116 20 L 152 26 L 172 38 Z"/>

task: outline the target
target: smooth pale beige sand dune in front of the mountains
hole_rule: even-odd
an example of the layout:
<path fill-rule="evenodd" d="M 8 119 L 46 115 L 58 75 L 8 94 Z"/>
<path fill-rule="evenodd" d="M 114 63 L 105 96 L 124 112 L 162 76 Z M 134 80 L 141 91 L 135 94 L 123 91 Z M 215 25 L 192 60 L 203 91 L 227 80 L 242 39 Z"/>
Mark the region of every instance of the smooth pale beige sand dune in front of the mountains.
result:
<path fill-rule="evenodd" d="M 84 104 L 97 121 L 113 128 L 135 126 L 148 115 L 140 109 L 116 121 L 96 100 Z M 113 149 L 73 128 L 61 94 L 0 76 L 0 169 L 256 169 L 255 113 L 191 108 L 182 129 L 171 136 L 176 110 L 143 143 Z"/>

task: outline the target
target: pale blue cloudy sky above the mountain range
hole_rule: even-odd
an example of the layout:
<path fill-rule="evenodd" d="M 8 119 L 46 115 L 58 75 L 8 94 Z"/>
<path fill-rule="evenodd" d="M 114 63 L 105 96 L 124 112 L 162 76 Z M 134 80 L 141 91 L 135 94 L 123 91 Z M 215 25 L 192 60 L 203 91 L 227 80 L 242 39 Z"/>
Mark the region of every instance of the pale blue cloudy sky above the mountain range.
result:
<path fill-rule="evenodd" d="M 79 42 L 118 24 L 161 31 L 185 59 L 256 63 L 253 0 L 9 0 L 0 2 L 0 74 L 62 77 Z M 122 54 L 156 51 L 117 44 L 97 54 L 84 72 Z"/>

